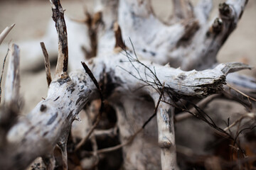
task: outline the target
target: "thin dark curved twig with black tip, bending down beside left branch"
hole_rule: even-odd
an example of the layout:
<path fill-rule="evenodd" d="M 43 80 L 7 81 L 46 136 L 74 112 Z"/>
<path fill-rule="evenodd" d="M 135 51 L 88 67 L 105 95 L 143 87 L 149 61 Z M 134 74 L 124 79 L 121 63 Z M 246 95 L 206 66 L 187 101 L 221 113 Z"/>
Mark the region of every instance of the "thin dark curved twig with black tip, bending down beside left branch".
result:
<path fill-rule="evenodd" d="M 97 125 L 100 123 L 100 119 L 102 117 L 102 112 L 103 112 L 103 108 L 104 108 L 104 98 L 103 98 L 102 90 L 100 89 L 99 83 L 97 82 L 94 75 L 92 74 L 92 71 L 90 71 L 89 67 L 87 67 L 85 62 L 81 62 L 81 63 L 82 63 L 82 67 L 84 67 L 84 69 L 85 69 L 85 72 L 89 75 L 90 79 L 92 79 L 93 83 L 95 84 L 95 86 L 97 87 L 97 89 L 100 93 L 101 106 L 100 106 L 100 111 L 97 115 L 96 122 L 92 125 L 92 128 L 90 128 L 87 135 L 78 143 L 78 145 L 75 147 L 75 150 L 78 150 L 80 147 L 82 147 L 82 145 L 88 140 L 88 138 L 92 134 L 93 130 L 95 130 Z"/>

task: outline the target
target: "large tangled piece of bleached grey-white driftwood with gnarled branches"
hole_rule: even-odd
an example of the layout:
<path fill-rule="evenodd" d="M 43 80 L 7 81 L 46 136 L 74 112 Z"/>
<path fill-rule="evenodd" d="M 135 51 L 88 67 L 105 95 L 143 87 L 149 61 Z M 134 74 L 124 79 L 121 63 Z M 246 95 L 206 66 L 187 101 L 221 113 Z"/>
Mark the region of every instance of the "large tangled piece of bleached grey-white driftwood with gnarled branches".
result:
<path fill-rule="evenodd" d="M 82 108 L 92 99 L 99 98 L 100 88 L 95 86 L 95 81 L 104 82 L 102 95 L 117 114 L 120 142 L 129 141 L 127 145 L 122 145 L 124 169 L 178 169 L 174 137 L 176 101 L 183 96 L 201 98 L 221 93 L 229 73 L 251 69 L 242 63 L 215 66 L 215 56 L 235 29 L 247 1 L 221 4 L 220 16 L 210 25 L 209 2 L 201 1 L 192 10 L 187 1 L 174 1 L 177 5 L 174 17 L 168 23 L 162 23 L 154 16 L 149 1 L 97 1 L 95 21 L 102 26 L 94 30 L 97 31 L 97 35 L 93 35 L 96 39 L 87 35 L 87 42 L 97 41 L 97 52 L 90 53 L 97 53 L 97 56 L 86 61 L 95 77 L 92 79 L 86 70 L 79 69 L 82 68 L 80 61 L 85 60 L 83 56 L 68 58 L 64 11 L 60 1 L 52 0 L 53 21 L 58 33 L 55 77 L 50 81 L 50 74 L 47 74 L 47 98 L 26 117 L 17 119 L 20 109 L 17 105 L 19 52 L 16 45 L 11 48 L 12 58 L 6 80 L 8 95 L 0 117 L 2 169 L 25 169 L 37 157 L 43 158 L 47 169 L 53 169 L 56 145 L 61 150 L 63 169 L 68 169 L 70 128 L 73 120 L 79 119 L 78 113 Z M 122 38 L 128 36 L 132 41 L 124 44 Z M 93 51 L 95 42 L 90 42 L 90 45 L 87 50 Z M 70 54 L 75 55 L 73 52 Z M 46 57 L 46 72 L 49 73 L 48 63 Z M 72 71 L 70 74 L 68 63 Z M 146 101 L 145 98 L 150 100 Z M 157 120 L 149 123 L 141 132 L 146 120 L 151 120 L 152 108 L 156 110 Z M 6 126 L 6 123 L 11 124 Z M 147 135 L 147 130 L 151 131 L 151 135 Z M 157 136 L 159 147 L 154 147 Z M 90 140 L 94 140 L 95 144 L 96 138 L 95 131 Z M 93 148 L 93 154 L 97 157 L 100 154 L 97 145 Z"/>

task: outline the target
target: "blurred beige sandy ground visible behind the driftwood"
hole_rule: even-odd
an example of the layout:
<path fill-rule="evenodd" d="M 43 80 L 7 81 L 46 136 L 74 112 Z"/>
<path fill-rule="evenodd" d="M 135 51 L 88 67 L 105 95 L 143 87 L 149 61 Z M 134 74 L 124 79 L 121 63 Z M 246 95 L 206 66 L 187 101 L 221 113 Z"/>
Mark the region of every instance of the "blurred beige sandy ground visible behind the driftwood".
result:
<path fill-rule="evenodd" d="M 220 1 L 214 1 L 214 9 L 211 18 L 216 16 L 217 6 Z M 196 1 L 193 1 L 195 4 Z M 65 15 L 72 18 L 84 17 L 84 6 L 92 11 L 92 0 L 63 0 Z M 166 18 L 171 13 L 171 1 L 154 0 L 154 11 L 157 16 Z M 16 23 L 16 26 L 8 35 L 4 42 L 18 42 L 21 40 L 31 40 L 40 38 L 46 31 L 48 21 L 51 17 L 51 8 L 48 0 L 27 0 L 27 1 L 0 1 L 0 30 L 6 26 Z M 256 66 L 256 1 L 251 0 L 247 5 L 238 28 L 228 38 L 225 45 L 218 54 L 219 62 L 246 62 Z M 39 44 L 38 44 L 39 45 Z M 22 49 L 21 49 L 22 50 Z M 0 63 L 6 51 L 0 52 Z M 22 57 L 22 56 L 21 56 Z M 42 56 L 43 57 L 43 56 Z M 1 65 L 1 64 L 0 64 Z M 243 72 L 256 76 L 255 70 Z M 2 85 L 3 86 L 3 85 Z M 28 113 L 31 109 L 45 98 L 47 94 L 46 76 L 44 70 L 37 73 L 21 72 L 21 95 L 23 96 L 23 113 Z"/>

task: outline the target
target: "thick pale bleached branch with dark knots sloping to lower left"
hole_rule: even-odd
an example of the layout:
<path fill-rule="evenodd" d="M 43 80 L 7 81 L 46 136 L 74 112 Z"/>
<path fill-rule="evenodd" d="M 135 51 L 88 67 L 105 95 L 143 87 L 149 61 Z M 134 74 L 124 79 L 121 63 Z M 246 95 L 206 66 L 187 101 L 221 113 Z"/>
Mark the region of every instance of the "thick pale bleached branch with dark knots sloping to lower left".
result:
<path fill-rule="evenodd" d="M 38 103 L 9 131 L 8 145 L 0 154 L 3 169 L 24 169 L 36 157 L 50 154 L 55 144 L 69 134 L 71 123 L 90 100 L 94 89 L 90 78 L 80 72 L 52 81 L 46 100 Z"/>

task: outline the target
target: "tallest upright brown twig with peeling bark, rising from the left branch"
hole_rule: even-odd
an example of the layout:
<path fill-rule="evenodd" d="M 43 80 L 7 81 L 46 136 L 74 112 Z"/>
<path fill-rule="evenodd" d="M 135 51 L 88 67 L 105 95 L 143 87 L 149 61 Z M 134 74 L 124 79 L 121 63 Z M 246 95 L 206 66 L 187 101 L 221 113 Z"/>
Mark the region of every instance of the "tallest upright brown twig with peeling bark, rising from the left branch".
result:
<path fill-rule="evenodd" d="M 64 11 L 60 0 L 50 0 L 53 11 L 53 21 L 58 33 L 58 61 L 55 69 L 55 79 L 68 77 L 68 34 L 65 26 Z"/>

